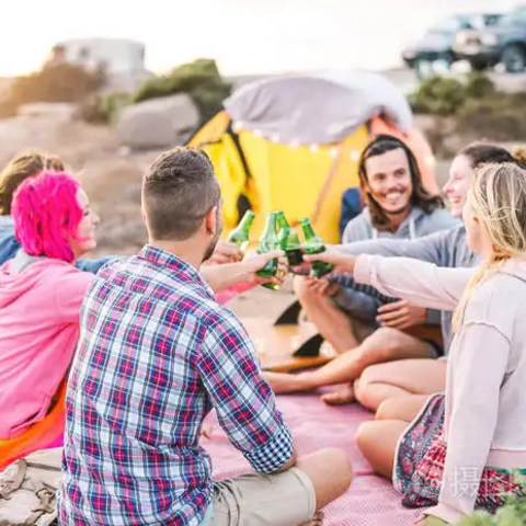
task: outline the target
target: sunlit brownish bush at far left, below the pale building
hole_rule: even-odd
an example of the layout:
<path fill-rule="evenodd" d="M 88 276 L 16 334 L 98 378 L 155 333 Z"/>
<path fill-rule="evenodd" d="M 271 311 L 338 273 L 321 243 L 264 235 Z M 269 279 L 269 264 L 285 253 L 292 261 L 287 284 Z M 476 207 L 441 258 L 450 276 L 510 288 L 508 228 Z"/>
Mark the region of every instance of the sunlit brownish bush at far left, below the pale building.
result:
<path fill-rule="evenodd" d="M 46 66 L 25 77 L 18 77 L 2 101 L 0 114 L 13 115 L 30 102 L 82 102 L 104 83 L 102 71 L 89 72 L 79 66 Z"/>

